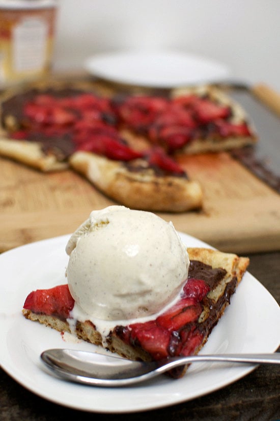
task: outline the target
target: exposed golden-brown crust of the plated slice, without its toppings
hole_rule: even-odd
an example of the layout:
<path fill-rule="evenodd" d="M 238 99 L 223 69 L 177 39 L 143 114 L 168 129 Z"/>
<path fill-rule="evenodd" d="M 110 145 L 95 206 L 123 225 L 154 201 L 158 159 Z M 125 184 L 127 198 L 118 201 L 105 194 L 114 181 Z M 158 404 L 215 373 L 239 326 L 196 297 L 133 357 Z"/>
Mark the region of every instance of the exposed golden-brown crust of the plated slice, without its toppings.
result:
<path fill-rule="evenodd" d="M 223 297 L 223 302 L 219 306 L 219 310 L 217 311 L 215 315 L 215 320 L 213 321 L 213 326 L 215 326 L 217 321 L 225 311 L 226 307 L 229 305 L 229 296 L 224 295 L 227 284 L 231 282 L 235 277 L 237 278 L 237 285 L 239 284 L 249 264 L 249 259 L 246 257 L 238 257 L 235 254 L 223 253 L 217 250 L 206 248 L 189 247 L 187 250 L 190 260 L 199 260 L 205 264 L 209 264 L 213 268 L 220 267 L 226 269 L 227 271 L 226 276 L 222 279 L 220 284 L 214 290 L 210 291 L 207 295 L 208 298 L 211 298 L 211 300 L 213 300 L 214 302 L 217 302 Z M 57 329 L 58 331 L 70 332 L 68 323 L 63 322 L 62 320 L 59 320 L 55 317 L 35 314 L 30 310 L 23 310 L 23 315 L 27 319 L 39 321 L 40 323 Z M 199 319 L 199 323 L 205 321 L 208 315 L 209 309 L 204 307 L 204 310 Z M 96 331 L 95 326 L 89 320 L 83 323 L 77 321 L 75 333 L 79 338 L 94 343 L 96 345 L 104 346 L 105 348 L 108 348 L 111 352 L 115 352 L 121 355 L 122 357 L 126 357 L 133 360 L 151 359 L 151 356 L 139 346 L 131 346 L 124 343 L 120 339 L 120 337 L 114 334 L 114 331 L 110 332 L 109 336 L 106 338 L 106 343 L 102 342 L 100 333 Z M 203 345 L 207 342 L 209 334 L 205 336 L 203 343 L 196 350 L 196 353 L 198 353 L 203 347 Z M 185 373 L 186 369 L 187 366 L 185 367 L 182 375 Z"/>

